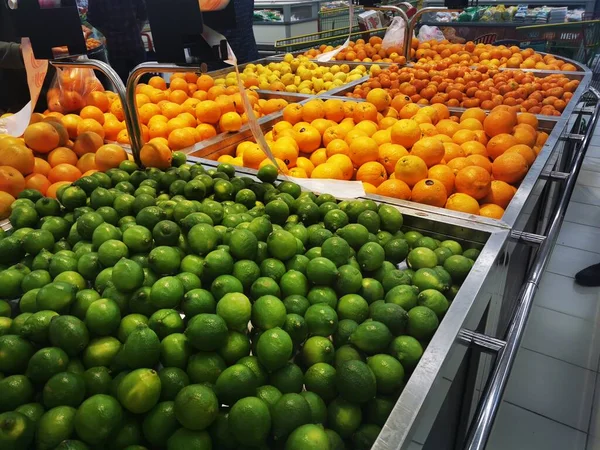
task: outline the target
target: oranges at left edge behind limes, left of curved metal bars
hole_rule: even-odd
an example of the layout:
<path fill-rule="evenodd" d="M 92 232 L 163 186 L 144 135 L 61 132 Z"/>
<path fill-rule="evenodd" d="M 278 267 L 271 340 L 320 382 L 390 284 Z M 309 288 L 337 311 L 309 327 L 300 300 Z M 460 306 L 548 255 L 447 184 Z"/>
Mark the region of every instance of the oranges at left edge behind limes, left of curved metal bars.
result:
<path fill-rule="evenodd" d="M 129 159 L 121 146 L 105 145 L 93 131 L 71 140 L 56 114 L 35 114 L 20 138 L 0 135 L 0 219 L 24 189 L 55 197 L 60 186 Z"/>

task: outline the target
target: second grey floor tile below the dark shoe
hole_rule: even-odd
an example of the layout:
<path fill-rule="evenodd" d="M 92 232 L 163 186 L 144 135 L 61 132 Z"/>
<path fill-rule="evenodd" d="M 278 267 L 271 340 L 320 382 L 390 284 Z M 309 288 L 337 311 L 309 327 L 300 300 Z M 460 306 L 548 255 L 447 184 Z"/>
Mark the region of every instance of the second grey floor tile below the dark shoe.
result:
<path fill-rule="evenodd" d="M 600 336 L 596 324 L 551 309 L 532 308 L 521 347 L 585 369 L 598 368 Z"/>

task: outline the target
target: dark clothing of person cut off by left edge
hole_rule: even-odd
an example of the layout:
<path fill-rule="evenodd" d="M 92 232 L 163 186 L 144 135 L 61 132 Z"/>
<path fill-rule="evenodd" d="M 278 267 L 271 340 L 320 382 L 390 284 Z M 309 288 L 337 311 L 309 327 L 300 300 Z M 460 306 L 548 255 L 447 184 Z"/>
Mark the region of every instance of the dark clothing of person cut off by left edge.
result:
<path fill-rule="evenodd" d="M 29 101 L 27 73 L 6 0 L 0 0 L 0 111 L 17 112 Z"/>

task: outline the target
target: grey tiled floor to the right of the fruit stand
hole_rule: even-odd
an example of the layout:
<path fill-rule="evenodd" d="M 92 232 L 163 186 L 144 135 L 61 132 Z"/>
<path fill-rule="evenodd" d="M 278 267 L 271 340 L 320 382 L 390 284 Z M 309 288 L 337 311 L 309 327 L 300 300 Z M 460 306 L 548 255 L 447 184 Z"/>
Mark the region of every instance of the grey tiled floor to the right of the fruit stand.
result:
<path fill-rule="evenodd" d="M 600 262 L 600 130 L 592 140 L 488 450 L 600 450 L 600 288 L 573 277 Z"/>

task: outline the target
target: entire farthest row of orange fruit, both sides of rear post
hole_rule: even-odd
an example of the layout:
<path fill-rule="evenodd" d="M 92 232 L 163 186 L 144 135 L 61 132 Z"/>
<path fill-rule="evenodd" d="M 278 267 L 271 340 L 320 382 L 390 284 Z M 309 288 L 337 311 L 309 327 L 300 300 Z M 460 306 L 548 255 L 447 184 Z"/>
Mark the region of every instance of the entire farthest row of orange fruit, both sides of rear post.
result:
<path fill-rule="evenodd" d="M 335 47 L 337 48 L 337 47 Z M 318 49 L 307 50 L 304 54 L 314 58 L 321 53 L 334 50 L 334 47 L 321 45 Z M 368 41 L 357 39 L 350 41 L 333 60 L 354 62 L 381 62 L 405 64 L 402 47 L 383 46 L 383 39 L 372 36 Z M 416 63 L 471 66 L 485 65 L 495 68 L 522 68 L 540 70 L 577 71 L 578 68 L 554 55 L 542 55 L 531 48 L 522 49 L 517 46 L 493 45 L 472 41 L 464 44 L 451 43 L 447 40 L 420 42 L 413 38 L 410 48 L 410 60 Z"/>

